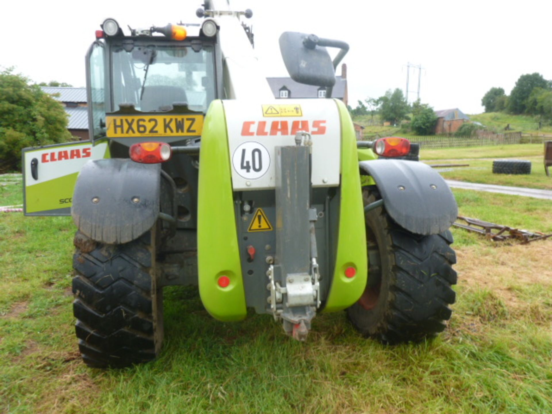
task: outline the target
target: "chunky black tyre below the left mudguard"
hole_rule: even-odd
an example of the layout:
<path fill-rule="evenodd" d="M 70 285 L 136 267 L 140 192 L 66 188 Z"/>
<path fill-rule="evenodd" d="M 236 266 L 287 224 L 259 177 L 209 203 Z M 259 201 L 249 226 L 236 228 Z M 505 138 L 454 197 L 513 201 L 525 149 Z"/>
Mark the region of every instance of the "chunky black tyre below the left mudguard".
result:
<path fill-rule="evenodd" d="M 93 368 L 155 359 L 163 340 L 163 296 L 155 276 L 155 233 L 121 245 L 76 233 L 73 314 L 79 351 Z"/>

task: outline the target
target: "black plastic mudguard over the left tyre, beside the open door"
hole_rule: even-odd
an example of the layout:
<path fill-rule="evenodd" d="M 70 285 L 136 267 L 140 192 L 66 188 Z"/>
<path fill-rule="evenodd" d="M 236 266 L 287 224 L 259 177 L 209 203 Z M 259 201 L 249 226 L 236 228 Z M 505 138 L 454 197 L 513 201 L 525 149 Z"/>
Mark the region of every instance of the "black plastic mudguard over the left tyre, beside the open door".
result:
<path fill-rule="evenodd" d="M 121 158 L 88 161 L 75 185 L 73 221 L 95 241 L 128 243 L 155 224 L 160 187 L 161 164 Z"/>

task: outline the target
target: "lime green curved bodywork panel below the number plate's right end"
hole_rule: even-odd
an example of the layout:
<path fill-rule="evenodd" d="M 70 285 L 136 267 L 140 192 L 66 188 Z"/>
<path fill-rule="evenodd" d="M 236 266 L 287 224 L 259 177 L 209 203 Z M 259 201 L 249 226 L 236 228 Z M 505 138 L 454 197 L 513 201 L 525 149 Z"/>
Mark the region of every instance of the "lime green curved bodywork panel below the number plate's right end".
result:
<path fill-rule="evenodd" d="M 215 319 L 238 321 L 246 317 L 245 290 L 232 198 L 232 174 L 221 100 L 214 100 L 201 134 L 198 190 L 199 295 Z M 217 280 L 226 275 L 230 284 Z"/>

